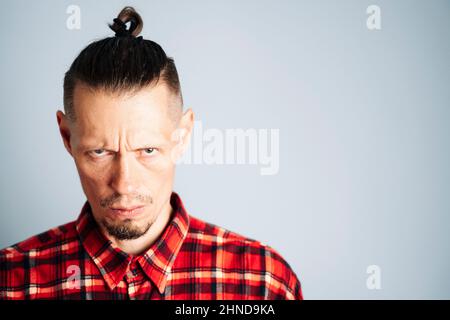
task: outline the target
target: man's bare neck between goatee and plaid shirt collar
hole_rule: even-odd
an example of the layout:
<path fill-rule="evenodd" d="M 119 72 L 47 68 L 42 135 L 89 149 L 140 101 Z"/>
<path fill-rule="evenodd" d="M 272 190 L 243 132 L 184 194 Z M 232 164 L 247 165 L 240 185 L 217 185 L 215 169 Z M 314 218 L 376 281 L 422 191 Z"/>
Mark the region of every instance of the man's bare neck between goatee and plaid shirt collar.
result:
<path fill-rule="evenodd" d="M 111 237 L 107 232 L 103 231 L 103 233 L 122 251 L 130 255 L 138 255 L 147 251 L 148 248 L 150 248 L 150 246 L 162 235 L 170 221 L 171 215 L 172 207 L 170 201 L 167 201 L 150 229 L 148 229 L 142 237 L 134 240 L 117 240 L 114 237 Z"/>

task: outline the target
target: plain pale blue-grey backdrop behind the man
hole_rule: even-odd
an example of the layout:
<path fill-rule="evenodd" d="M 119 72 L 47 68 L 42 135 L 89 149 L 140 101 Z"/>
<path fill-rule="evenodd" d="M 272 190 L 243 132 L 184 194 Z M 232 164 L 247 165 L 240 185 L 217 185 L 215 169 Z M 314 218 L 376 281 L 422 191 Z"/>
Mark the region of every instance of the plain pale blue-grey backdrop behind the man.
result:
<path fill-rule="evenodd" d="M 66 28 L 70 4 L 81 30 Z M 449 1 L 1 5 L 0 247 L 78 216 L 55 116 L 63 75 L 133 5 L 204 128 L 280 129 L 278 175 L 180 165 L 191 214 L 277 249 L 305 298 L 450 298 Z M 381 290 L 366 287 L 372 264 Z"/>

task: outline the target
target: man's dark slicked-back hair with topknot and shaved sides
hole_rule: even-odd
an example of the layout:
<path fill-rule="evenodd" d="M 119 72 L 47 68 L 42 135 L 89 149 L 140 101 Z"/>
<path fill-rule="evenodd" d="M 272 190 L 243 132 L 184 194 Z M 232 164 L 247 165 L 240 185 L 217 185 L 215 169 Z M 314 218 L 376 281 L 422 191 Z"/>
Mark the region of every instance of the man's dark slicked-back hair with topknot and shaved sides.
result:
<path fill-rule="evenodd" d="M 73 98 L 77 85 L 120 94 L 136 92 L 161 80 L 177 97 L 175 108 L 182 110 L 183 97 L 175 62 L 159 44 L 138 37 L 143 21 L 136 10 L 123 8 L 109 28 L 115 36 L 89 44 L 65 74 L 64 111 L 68 118 L 75 120 Z"/>

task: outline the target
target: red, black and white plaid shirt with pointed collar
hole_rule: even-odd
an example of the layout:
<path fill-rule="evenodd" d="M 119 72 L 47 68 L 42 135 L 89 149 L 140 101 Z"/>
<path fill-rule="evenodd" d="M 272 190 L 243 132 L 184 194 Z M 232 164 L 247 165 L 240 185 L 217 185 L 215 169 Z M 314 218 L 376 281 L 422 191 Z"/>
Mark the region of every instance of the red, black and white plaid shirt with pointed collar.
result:
<path fill-rule="evenodd" d="M 78 219 L 0 251 L 0 299 L 303 299 L 272 248 L 187 214 L 177 193 L 162 236 L 129 255 Z"/>

